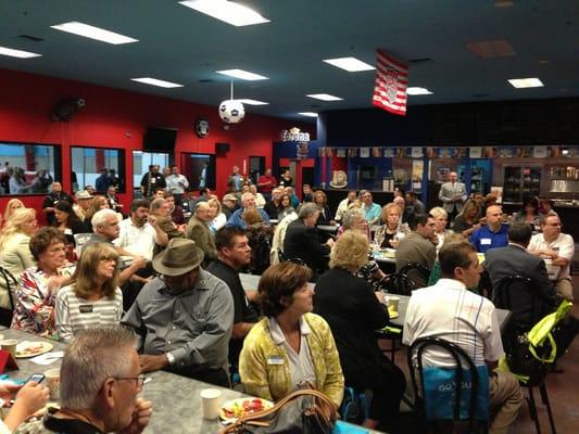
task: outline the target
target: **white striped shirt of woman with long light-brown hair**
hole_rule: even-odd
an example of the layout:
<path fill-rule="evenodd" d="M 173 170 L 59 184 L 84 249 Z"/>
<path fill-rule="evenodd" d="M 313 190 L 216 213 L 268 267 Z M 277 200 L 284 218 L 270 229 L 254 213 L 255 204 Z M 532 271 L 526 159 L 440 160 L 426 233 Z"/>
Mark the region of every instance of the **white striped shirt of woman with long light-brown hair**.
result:
<path fill-rule="evenodd" d="M 68 342 L 83 330 L 117 326 L 123 316 L 123 293 L 117 288 L 112 298 L 88 301 L 78 297 L 72 284 L 59 291 L 54 308 L 59 339 Z"/>

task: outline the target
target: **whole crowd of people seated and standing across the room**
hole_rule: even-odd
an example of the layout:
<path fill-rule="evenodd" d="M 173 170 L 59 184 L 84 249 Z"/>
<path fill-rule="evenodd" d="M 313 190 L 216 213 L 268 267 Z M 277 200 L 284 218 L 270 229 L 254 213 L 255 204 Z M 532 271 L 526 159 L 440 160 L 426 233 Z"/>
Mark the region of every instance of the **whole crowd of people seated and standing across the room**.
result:
<path fill-rule="evenodd" d="M 387 272 L 373 256 L 383 248 L 395 250 L 397 271 L 408 264 L 430 271 L 408 275 L 418 290 L 403 342 L 438 336 L 458 344 L 488 367 L 490 432 L 506 432 L 516 420 L 523 395 L 513 374 L 495 370 L 504 347 L 477 254 L 486 254 L 492 285 L 513 273 L 528 277 L 541 312 L 554 311 L 558 299 L 572 299 L 574 242 L 552 209 L 541 214 L 531 201 L 507 219 L 492 197 L 468 199 L 456 174 L 442 186 L 442 206 L 428 213 L 414 192 L 397 191 L 381 206 L 366 190 L 345 193 L 332 212 L 310 186 L 302 186 L 301 202 L 289 171 L 277 180 L 268 169 L 253 186 L 236 166 L 219 200 L 207 188 L 193 195 L 178 167 L 167 169 L 150 167 L 126 216 L 104 181 L 74 197 L 52 182 L 42 228 L 35 209 L 18 200 L 7 205 L 0 265 L 17 284 L 12 297 L 0 288 L 0 307 L 13 329 L 70 344 L 61 409 L 45 427 L 58 431 L 90 414 L 101 431 L 142 429 L 151 404 L 136 398 L 141 373 L 163 369 L 225 387 L 239 372 L 248 394 L 270 400 L 314 385 L 337 407 L 344 386 L 368 388 L 364 425 L 402 432 L 406 379 L 375 334 L 390 320 L 376 291 Z M 320 230 L 328 226 L 336 230 Z M 256 291 L 243 288 L 240 272 L 261 275 Z M 527 304 L 513 309 L 513 321 L 528 330 Z M 96 354 L 101 367 L 81 366 Z M 449 366 L 436 353 L 427 361 Z M 76 397 L 68 375 L 83 372 L 91 387 L 131 379 L 133 397 L 121 410 L 98 387 Z"/>

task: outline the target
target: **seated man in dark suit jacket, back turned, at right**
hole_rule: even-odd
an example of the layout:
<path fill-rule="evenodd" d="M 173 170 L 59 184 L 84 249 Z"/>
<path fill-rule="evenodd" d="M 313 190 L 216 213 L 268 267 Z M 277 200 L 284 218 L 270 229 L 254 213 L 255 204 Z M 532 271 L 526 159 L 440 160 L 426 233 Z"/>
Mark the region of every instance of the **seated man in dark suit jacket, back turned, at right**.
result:
<path fill-rule="evenodd" d="M 532 229 L 528 224 L 513 224 L 508 229 L 508 245 L 492 248 L 487 252 L 484 266 L 489 270 L 492 285 L 496 290 L 501 279 L 508 276 L 523 276 L 530 279 L 532 291 L 537 292 L 539 305 L 532 310 L 532 298 L 526 292 L 511 295 L 511 310 L 513 316 L 509 326 L 530 330 L 534 322 L 556 308 L 555 290 L 546 276 L 543 259 L 527 252 L 527 246 L 532 235 Z M 498 294 L 494 294 L 496 298 Z M 496 302 L 494 302 L 496 303 Z M 508 308 L 507 306 L 499 306 Z"/>

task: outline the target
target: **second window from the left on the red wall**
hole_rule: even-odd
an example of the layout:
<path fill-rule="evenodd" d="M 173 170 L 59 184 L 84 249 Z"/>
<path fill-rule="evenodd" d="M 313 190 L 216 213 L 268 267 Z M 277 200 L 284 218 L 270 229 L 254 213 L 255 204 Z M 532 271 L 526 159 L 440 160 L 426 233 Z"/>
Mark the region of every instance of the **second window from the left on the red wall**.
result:
<path fill-rule="evenodd" d="M 104 171 L 106 169 L 106 171 Z M 125 191 L 125 151 L 108 148 L 71 148 L 73 193 L 92 186 L 105 193 L 111 184 Z"/>

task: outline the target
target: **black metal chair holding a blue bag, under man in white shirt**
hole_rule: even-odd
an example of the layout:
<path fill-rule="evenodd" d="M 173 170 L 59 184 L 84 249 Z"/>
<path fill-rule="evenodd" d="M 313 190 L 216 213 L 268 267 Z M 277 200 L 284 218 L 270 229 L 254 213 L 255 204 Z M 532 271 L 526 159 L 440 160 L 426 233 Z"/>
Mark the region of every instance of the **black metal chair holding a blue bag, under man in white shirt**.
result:
<path fill-rule="evenodd" d="M 454 403 L 450 403 L 453 408 L 453 419 L 451 424 L 454 426 L 456 422 L 464 422 L 468 421 L 468 433 L 479 433 L 479 432 L 487 432 L 487 423 L 486 421 L 480 421 L 476 419 L 476 408 L 477 408 L 477 396 L 478 396 L 478 388 L 479 388 L 479 379 L 478 379 L 478 372 L 477 367 L 470 359 L 470 357 L 457 345 L 453 344 L 452 342 L 445 341 L 440 337 L 421 337 L 413 342 L 413 344 L 410 346 L 407 352 L 407 362 L 408 362 L 408 370 L 411 374 L 411 381 L 412 386 L 414 388 L 414 396 L 415 396 L 415 409 L 419 411 L 421 417 L 426 419 L 426 403 L 424 398 L 421 397 L 420 392 L 424 391 L 424 382 L 423 382 L 423 355 L 426 348 L 428 347 L 439 347 L 445 349 L 454 359 L 454 363 L 457 367 L 455 369 L 455 384 L 462 384 L 463 378 L 464 378 L 464 371 L 463 365 L 467 365 L 467 370 L 470 371 L 470 379 L 471 379 L 471 387 L 470 387 L 470 394 L 468 398 L 468 419 L 462 419 L 461 418 L 461 394 L 456 393 Z M 413 362 L 413 356 L 416 353 L 416 360 L 417 366 Z M 460 369 L 458 369 L 460 368 Z M 420 376 L 420 390 L 418 388 L 418 382 L 416 379 L 416 373 L 418 372 L 418 375 Z M 427 425 L 432 423 L 432 425 L 436 425 L 437 422 L 440 421 L 426 421 Z M 446 421 L 449 422 L 449 421 Z M 435 426 L 430 426 L 433 429 Z"/>

